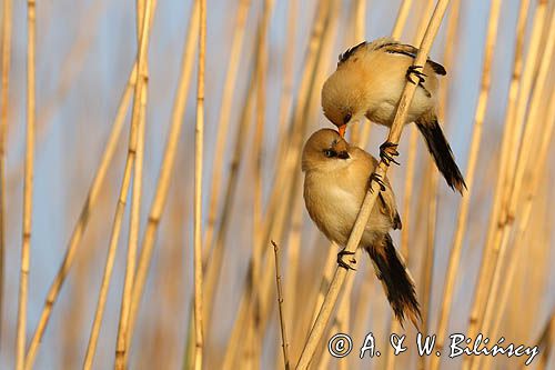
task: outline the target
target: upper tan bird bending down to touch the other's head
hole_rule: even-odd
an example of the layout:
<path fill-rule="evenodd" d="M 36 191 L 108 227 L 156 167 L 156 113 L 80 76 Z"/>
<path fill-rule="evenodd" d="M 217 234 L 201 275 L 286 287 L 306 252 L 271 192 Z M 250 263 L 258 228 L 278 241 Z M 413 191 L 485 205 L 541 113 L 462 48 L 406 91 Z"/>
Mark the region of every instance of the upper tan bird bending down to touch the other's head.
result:
<path fill-rule="evenodd" d="M 345 134 L 347 123 L 369 120 L 393 124 L 406 80 L 417 84 L 405 124 L 415 122 L 447 184 L 463 194 L 463 174 L 437 120 L 437 76 L 445 68 L 433 60 L 413 66 L 418 49 L 391 38 L 361 42 L 340 54 L 336 70 L 322 87 L 324 116 Z M 389 166 L 398 156 L 396 144 L 384 142 L 380 157 Z"/>

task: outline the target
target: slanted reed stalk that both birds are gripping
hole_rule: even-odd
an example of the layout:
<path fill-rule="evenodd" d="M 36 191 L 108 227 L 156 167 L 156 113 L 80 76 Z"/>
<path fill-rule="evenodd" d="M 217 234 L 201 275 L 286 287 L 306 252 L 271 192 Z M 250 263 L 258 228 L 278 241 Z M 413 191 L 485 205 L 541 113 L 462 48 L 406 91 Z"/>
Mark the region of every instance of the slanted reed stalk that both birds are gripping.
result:
<path fill-rule="evenodd" d="M 436 8 L 434 10 L 434 13 L 432 16 L 432 19 L 430 20 L 428 27 L 426 29 L 426 32 L 424 34 L 424 39 L 422 41 L 422 44 L 420 47 L 418 53 L 415 58 L 414 64 L 415 66 L 423 66 L 427 59 L 427 54 L 430 52 L 430 49 L 432 48 L 433 40 L 437 33 L 437 30 L 440 29 L 443 16 L 445 13 L 445 10 L 448 6 L 448 0 L 438 0 Z M 408 106 L 412 102 L 412 98 L 414 96 L 414 92 L 416 90 L 416 86 L 412 83 L 406 83 L 405 88 L 403 90 L 403 94 L 401 97 L 400 103 L 397 111 L 395 113 L 395 119 L 393 121 L 392 128 L 390 130 L 390 134 L 387 137 L 387 141 L 397 143 L 398 139 L 401 137 L 401 132 L 403 130 L 405 117 L 407 113 Z M 385 177 L 387 172 L 387 166 L 381 161 L 377 169 L 376 169 L 376 174 L 381 176 L 382 178 Z M 375 182 L 372 182 L 372 186 L 369 189 L 369 192 L 366 193 L 366 197 L 364 198 L 364 202 L 362 204 L 362 208 L 359 212 L 359 216 L 356 218 L 356 221 L 354 223 L 353 230 L 351 232 L 351 236 L 349 237 L 349 242 L 345 247 L 345 250 L 354 252 L 359 246 L 359 242 L 361 240 L 362 233 L 364 231 L 365 224 L 369 220 L 370 212 L 372 211 L 372 208 L 374 207 L 374 203 L 376 201 L 379 194 L 379 187 Z M 343 286 L 343 282 L 346 278 L 347 270 L 337 267 L 335 270 L 335 276 L 333 278 L 333 281 L 330 286 L 330 290 L 327 291 L 327 294 L 324 299 L 324 303 L 322 304 L 322 309 L 320 310 L 319 317 L 316 319 L 316 322 L 314 323 L 314 327 L 311 330 L 311 333 L 309 336 L 309 339 L 306 341 L 306 344 L 304 347 L 303 353 L 301 354 L 301 359 L 297 364 L 297 369 L 307 369 L 309 364 L 312 360 L 312 357 L 316 350 L 316 347 L 319 346 L 322 334 L 325 330 L 325 327 L 327 326 L 330 316 L 332 313 L 332 310 L 335 306 L 335 302 L 337 300 L 339 292 Z"/>

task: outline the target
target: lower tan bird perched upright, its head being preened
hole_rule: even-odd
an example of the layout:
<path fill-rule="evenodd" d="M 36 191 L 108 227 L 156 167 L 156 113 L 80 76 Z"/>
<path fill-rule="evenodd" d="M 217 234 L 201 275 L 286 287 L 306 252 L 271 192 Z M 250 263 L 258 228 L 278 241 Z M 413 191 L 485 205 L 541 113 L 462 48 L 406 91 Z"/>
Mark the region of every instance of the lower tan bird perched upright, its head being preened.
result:
<path fill-rule="evenodd" d="M 377 163 L 374 157 L 351 146 L 332 129 L 314 132 L 304 144 L 302 171 L 306 210 L 320 231 L 339 246 L 347 243 Z M 402 228 L 395 196 L 386 177 L 376 181 L 380 183 L 377 202 L 359 248 L 369 253 L 398 322 L 403 324 L 407 317 L 418 328 L 422 319 L 414 280 L 390 236 L 392 229 Z M 352 269 L 343 260 L 345 254 L 353 252 L 343 248 L 337 253 L 337 263 Z M 350 261 L 356 263 L 353 257 Z"/>

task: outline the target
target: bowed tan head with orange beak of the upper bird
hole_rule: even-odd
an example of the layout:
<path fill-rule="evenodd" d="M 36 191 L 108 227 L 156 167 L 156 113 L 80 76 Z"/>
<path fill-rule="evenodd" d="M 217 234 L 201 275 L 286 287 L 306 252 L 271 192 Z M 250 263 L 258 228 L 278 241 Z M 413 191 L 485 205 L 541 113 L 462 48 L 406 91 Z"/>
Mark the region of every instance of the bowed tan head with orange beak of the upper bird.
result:
<path fill-rule="evenodd" d="M 346 124 L 362 120 L 366 113 L 364 79 L 337 69 L 322 87 L 322 109 L 344 137 Z"/>

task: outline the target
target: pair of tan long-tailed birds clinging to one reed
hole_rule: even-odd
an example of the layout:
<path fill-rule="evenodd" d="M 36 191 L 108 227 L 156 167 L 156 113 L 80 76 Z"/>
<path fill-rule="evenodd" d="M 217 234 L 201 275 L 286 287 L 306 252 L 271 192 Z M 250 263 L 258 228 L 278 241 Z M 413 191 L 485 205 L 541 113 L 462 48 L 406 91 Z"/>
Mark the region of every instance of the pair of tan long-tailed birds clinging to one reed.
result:
<path fill-rule="evenodd" d="M 461 194 L 466 187 L 435 113 L 436 74 L 446 74 L 445 69 L 432 60 L 423 67 L 413 66 L 417 51 L 389 38 L 362 42 L 340 56 L 336 71 L 323 86 L 324 114 L 339 131 L 322 129 L 305 143 L 304 200 L 317 228 L 340 246 L 346 246 L 369 189 L 370 176 L 377 166 L 374 157 L 345 141 L 346 126 L 366 117 L 391 127 L 406 80 L 416 83 L 417 89 L 405 123 L 416 123 L 447 184 Z M 395 162 L 397 154 L 392 143 L 385 142 L 380 148 L 380 156 L 387 164 Z M 370 254 L 397 320 L 403 324 L 407 317 L 418 327 L 421 313 L 414 281 L 390 236 L 392 229 L 402 227 L 395 196 L 386 178 L 379 181 L 377 203 L 359 247 Z M 337 262 L 349 269 L 344 254 L 344 250 L 337 254 Z"/>

